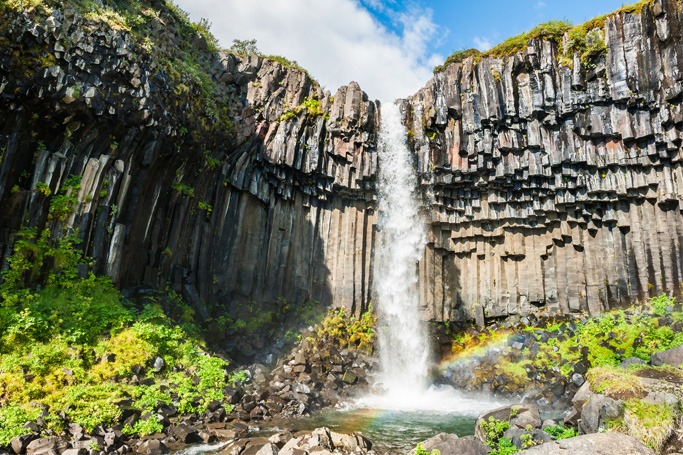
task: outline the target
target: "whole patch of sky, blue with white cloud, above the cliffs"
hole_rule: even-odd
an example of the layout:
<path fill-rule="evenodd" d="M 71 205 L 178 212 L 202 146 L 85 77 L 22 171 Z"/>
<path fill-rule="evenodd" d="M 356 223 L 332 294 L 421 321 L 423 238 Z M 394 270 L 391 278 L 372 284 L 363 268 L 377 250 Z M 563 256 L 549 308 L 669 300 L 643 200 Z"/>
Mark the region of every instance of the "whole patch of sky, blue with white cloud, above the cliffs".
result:
<path fill-rule="evenodd" d="M 615 0 L 176 0 L 224 47 L 256 39 L 307 68 L 332 94 L 355 80 L 384 101 L 415 93 L 452 52 L 486 50 L 551 19 L 578 24 Z"/>

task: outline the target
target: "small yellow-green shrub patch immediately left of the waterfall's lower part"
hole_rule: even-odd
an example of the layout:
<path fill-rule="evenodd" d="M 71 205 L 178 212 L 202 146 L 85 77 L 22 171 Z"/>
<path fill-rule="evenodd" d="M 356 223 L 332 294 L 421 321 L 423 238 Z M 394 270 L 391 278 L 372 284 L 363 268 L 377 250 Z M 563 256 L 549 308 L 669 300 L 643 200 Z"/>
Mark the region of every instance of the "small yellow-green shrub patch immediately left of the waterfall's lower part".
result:
<path fill-rule="evenodd" d="M 371 352 L 375 341 L 377 318 L 371 311 L 360 317 L 349 315 L 343 308 L 331 310 L 317 331 L 318 338 L 332 339 L 340 346 L 357 347 Z"/>

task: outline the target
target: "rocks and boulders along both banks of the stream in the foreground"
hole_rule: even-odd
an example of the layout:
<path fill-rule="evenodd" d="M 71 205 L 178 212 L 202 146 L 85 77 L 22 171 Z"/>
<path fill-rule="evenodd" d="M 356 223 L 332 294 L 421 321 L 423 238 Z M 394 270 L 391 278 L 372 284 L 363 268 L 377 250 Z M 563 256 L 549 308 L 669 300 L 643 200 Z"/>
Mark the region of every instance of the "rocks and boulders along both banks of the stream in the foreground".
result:
<path fill-rule="evenodd" d="M 683 434 L 683 372 L 674 365 L 681 364 L 683 347 L 676 347 L 654 354 L 649 363 L 630 358 L 620 367 L 593 368 L 561 419 L 542 419 L 548 408 L 539 408 L 527 397 L 517 405 L 480 415 L 474 435 L 438 434 L 424 441 L 420 450 L 438 449 L 442 455 L 485 454 L 501 448 L 537 454 L 579 454 L 598 448 L 595 453 L 677 453 Z M 326 427 L 294 430 L 293 419 L 366 391 L 367 372 L 374 366 L 372 358 L 357 349 L 308 337 L 272 370 L 263 365 L 245 370 L 243 383 L 225 390 L 227 401 L 213 403 L 204 414 L 179 415 L 173 405 L 158 406 L 155 415 L 163 431 L 157 434 L 125 435 L 124 425 L 150 416 L 121 403 L 125 414 L 119 425 L 88 433 L 72 423 L 56 434 L 46 432 L 46 423 L 39 418 L 27 422 L 31 433 L 12 439 L 6 451 L 16 455 L 161 454 L 222 441 L 227 443 L 221 449 L 226 455 L 391 453 L 383 449 L 382 441 L 373 444 L 360 432 Z M 277 425 L 269 426 L 268 421 Z M 273 429 L 257 431 L 260 427 Z M 6 451 L 0 449 L 0 453 Z"/>

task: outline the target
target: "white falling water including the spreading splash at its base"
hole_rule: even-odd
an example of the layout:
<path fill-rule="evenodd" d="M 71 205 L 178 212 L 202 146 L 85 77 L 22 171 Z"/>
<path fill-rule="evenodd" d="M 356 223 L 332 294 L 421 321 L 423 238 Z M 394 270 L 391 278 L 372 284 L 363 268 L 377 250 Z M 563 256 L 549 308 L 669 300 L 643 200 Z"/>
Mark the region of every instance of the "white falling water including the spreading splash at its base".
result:
<path fill-rule="evenodd" d="M 389 418 L 398 417 L 402 422 L 399 426 L 409 421 L 408 426 L 414 426 L 419 419 L 443 414 L 477 416 L 500 403 L 430 384 L 432 359 L 427 326 L 420 317 L 417 269 L 427 242 L 427 220 L 422 215 L 401 112 L 395 104 L 382 105 L 379 139 L 374 283 L 381 369 L 377 382 L 381 392 L 359 398 L 351 408 L 381 410 Z"/>

